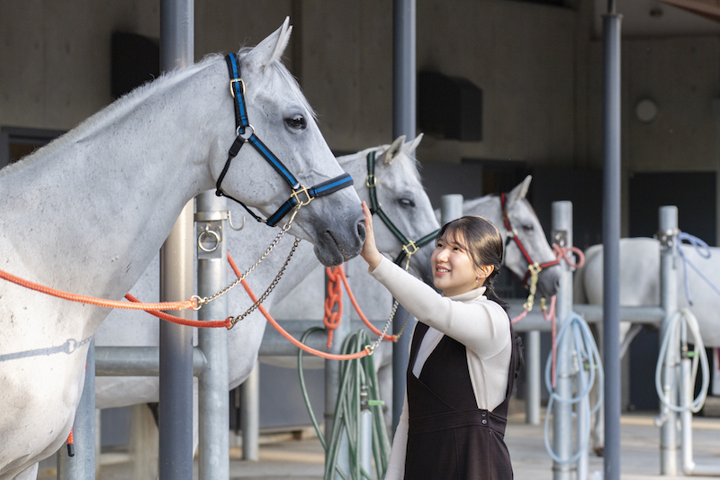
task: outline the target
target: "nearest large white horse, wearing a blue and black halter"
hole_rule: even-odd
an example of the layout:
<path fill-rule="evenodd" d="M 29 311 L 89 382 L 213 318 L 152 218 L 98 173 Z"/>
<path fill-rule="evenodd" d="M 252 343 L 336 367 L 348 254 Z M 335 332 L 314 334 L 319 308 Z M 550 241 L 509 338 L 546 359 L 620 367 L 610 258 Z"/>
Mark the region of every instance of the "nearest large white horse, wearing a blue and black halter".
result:
<path fill-rule="evenodd" d="M 302 96 L 279 62 L 286 20 L 238 53 L 258 137 L 308 186 L 341 175 Z M 215 186 L 236 140 L 228 66 L 220 56 L 171 72 L 0 170 L 0 268 L 67 292 L 121 299 L 184 205 Z M 269 215 L 290 189 L 256 149 L 241 149 L 223 188 Z M 360 199 L 344 189 L 303 207 L 291 231 L 324 264 L 362 248 Z M 0 479 L 27 479 L 67 439 L 87 344 L 108 309 L 0 280 Z"/>

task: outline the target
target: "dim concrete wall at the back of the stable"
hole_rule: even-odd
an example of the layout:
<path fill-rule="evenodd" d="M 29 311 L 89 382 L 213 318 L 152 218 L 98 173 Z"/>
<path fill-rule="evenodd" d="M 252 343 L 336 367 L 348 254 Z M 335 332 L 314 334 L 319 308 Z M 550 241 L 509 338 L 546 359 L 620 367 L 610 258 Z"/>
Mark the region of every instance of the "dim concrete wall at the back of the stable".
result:
<path fill-rule="evenodd" d="M 482 141 L 426 136 L 419 158 L 601 167 L 597 19 L 605 4 L 418 2 L 418 68 L 465 77 L 484 95 Z M 635 171 L 718 168 L 720 131 L 711 101 L 720 97 L 720 26 L 667 5 L 651 16 L 658 5 L 618 3 L 626 13 L 624 32 L 632 35 L 623 43 L 625 179 Z M 391 141 L 390 1 L 198 1 L 195 59 L 254 45 L 286 15 L 294 25 L 287 64 L 330 147 L 348 152 Z M 688 36 L 693 29 L 703 35 Z M 112 102 L 114 30 L 157 38 L 159 2 L 0 2 L 0 125 L 67 130 Z M 634 115 L 645 96 L 661 112 L 650 124 Z"/>

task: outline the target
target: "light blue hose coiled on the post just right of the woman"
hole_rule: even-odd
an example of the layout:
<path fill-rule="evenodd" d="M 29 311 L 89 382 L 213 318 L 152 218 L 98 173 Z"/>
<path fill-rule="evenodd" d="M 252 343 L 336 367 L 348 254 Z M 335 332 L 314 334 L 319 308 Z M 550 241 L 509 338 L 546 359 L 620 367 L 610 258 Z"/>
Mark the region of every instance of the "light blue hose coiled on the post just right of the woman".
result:
<path fill-rule="evenodd" d="M 572 336 L 568 335 L 572 332 Z M 566 342 L 572 341 L 571 345 L 566 345 Z M 560 328 L 560 332 L 557 334 L 555 339 L 555 347 L 561 355 L 565 355 L 569 351 L 574 351 L 577 355 L 577 372 L 576 375 L 579 379 L 577 390 L 579 393 L 576 396 L 563 397 L 558 394 L 553 385 L 554 378 L 551 376 L 552 367 L 552 354 L 548 356 L 547 363 L 545 364 L 545 386 L 547 391 L 550 392 L 550 400 L 547 403 L 547 414 L 545 415 L 545 448 L 550 457 L 553 458 L 554 462 L 559 464 L 569 464 L 580 459 L 583 452 L 587 451 L 588 443 L 590 441 L 590 419 L 595 412 L 598 412 L 604 395 L 604 378 L 605 374 L 602 368 L 602 359 L 600 358 L 600 352 L 598 345 L 595 343 L 595 339 L 592 336 L 588 323 L 585 322 L 580 315 L 575 312 L 571 312 L 570 315 L 563 322 L 563 326 Z M 572 349 L 571 347 L 574 347 Z M 572 360 L 572 359 L 568 359 Z M 560 362 L 560 360 L 558 360 Z M 590 371 L 590 378 L 586 378 L 583 371 Z M 597 372 L 597 374 L 596 374 Z M 556 375 L 556 372 L 554 373 Z M 599 384 L 598 402 L 590 408 L 590 390 L 592 385 L 595 383 L 596 376 Z M 558 403 L 581 403 L 584 407 L 581 412 L 584 412 L 582 417 L 578 416 L 578 413 L 572 415 L 577 418 L 580 424 L 581 431 L 578 433 L 578 441 L 580 446 L 577 453 L 570 458 L 561 458 L 553 450 L 550 445 L 550 417 L 553 412 L 553 405 L 555 402 Z M 555 432 L 555 435 L 562 435 L 566 432 Z"/>

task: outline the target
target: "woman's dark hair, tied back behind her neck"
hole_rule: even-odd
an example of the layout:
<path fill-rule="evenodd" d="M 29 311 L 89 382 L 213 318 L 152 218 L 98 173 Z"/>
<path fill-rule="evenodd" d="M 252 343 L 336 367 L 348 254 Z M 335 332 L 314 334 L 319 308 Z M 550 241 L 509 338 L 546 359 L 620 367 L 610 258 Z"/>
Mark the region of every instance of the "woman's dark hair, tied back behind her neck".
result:
<path fill-rule="evenodd" d="M 470 254 L 475 267 L 492 266 L 492 273 L 485 278 L 485 283 L 482 284 L 485 286 L 485 296 L 488 300 L 500 304 L 505 312 L 509 312 L 509 304 L 500 299 L 493 285 L 495 277 L 500 274 L 504 248 L 502 235 L 498 228 L 484 217 L 466 215 L 443 225 L 440 231 L 437 232 L 437 240 L 446 235 Z M 518 358 L 515 376 L 518 376 L 518 371 L 525 366 L 523 339 L 514 330 L 511 329 L 511 331 L 515 340 Z"/>

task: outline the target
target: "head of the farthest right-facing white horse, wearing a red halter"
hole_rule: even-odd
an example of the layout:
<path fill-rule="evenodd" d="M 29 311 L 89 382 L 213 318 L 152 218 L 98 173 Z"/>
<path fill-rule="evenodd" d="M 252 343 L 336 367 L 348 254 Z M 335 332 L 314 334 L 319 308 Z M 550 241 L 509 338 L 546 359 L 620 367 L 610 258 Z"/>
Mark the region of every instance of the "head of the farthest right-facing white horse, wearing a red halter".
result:
<path fill-rule="evenodd" d="M 506 242 L 504 265 L 516 276 L 523 278 L 526 284 L 529 282 L 531 264 L 541 266 L 537 288 L 542 296 L 548 298 L 560 288 L 561 267 L 556 262 L 553 249 L 545 238 L 545 231 L 533 207 L 527 201 L 527 189 L 531 180 L 532 177 L 528 175 L 505 195 L 504 205 L 501 199 L 502 220 L 495 224 L 501 232 L 504 230 L 509 240 Z"/>

